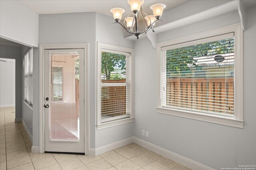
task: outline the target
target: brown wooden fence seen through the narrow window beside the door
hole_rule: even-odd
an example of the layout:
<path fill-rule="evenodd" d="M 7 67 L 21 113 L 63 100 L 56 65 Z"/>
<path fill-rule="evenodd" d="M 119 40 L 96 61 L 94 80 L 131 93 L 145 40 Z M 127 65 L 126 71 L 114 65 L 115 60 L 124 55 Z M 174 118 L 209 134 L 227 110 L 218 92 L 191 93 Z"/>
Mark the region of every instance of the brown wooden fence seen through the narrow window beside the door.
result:
<path fill-rule="evenodd" d="M 126 80 L 101 80 L 102 83 L 125 83 Z M 102 86 L 101 113 L 106 116 L 126 115 L 126 86 Z"/>

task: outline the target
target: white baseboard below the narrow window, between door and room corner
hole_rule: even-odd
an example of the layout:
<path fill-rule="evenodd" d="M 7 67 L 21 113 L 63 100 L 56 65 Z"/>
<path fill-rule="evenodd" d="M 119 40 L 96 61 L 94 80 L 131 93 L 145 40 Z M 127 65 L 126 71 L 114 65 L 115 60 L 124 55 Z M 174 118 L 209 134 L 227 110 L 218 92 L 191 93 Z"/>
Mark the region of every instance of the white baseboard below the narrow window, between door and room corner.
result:
<path fill-rule="evenodd" d="M 96 148 L 96 149 L 90 149 L 89 150 L 89 155 L 90 156 L 96 156 L 96 155 L 108 152 L 110 150 L 117 149 L 119 147 L 122 147 L 122 146 L 128 145 L 130 143 L 133 143 L 133 140 L 134 140 L 134 137 L 129 137 L 129 138 L 123 139 L 121 141 L 110 143 L 108 145 L 105 145 L 105 146 L 102 146 L 102 147 L 99 147 L 99 148 Z"/>

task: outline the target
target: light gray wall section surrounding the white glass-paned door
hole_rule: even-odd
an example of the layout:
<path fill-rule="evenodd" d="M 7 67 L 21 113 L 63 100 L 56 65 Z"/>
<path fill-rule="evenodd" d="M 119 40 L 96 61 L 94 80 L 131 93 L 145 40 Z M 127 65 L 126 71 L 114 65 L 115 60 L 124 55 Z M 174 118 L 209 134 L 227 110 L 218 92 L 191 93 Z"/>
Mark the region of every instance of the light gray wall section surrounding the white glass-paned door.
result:
<path fill-rule="evenodd" d="M 39 15 L 39 44 L 90 43 L 90 147 L 95 147 L 95 20 L 96 14 Z M 34 48 L 33 145 L 39 146 L 39 48 Z"/>

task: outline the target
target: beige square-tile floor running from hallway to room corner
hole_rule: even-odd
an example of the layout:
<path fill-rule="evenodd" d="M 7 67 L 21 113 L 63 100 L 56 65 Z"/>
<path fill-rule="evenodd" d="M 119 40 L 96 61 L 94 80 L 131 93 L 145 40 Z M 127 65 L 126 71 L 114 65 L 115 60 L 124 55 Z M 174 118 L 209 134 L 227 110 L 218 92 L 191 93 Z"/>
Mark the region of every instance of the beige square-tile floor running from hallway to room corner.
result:
<path fill-rule="evenodd" d="M 131 143 L 98 156 L 31 153 L 31 142 L 14 107 L 0 108 L 0 169 L 6 170 L 191 170 Z"/>

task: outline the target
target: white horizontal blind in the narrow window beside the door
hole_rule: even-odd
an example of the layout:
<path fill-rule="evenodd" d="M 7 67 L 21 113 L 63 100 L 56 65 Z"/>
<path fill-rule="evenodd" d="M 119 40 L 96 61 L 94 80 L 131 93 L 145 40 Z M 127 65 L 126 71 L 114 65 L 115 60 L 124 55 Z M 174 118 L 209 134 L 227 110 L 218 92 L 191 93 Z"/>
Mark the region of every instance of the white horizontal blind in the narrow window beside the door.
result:
<path fill-rule="evenodd" d="M 130 117 L 131 59 L 128 53 L 101 53 L 101 122 Z"/>

